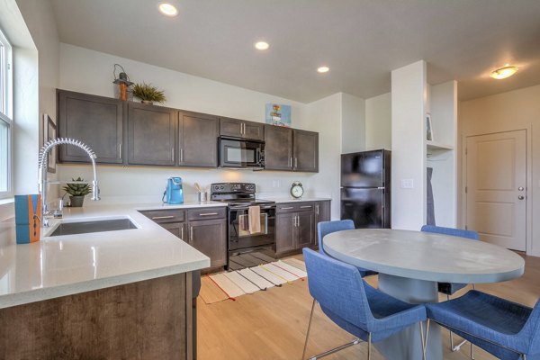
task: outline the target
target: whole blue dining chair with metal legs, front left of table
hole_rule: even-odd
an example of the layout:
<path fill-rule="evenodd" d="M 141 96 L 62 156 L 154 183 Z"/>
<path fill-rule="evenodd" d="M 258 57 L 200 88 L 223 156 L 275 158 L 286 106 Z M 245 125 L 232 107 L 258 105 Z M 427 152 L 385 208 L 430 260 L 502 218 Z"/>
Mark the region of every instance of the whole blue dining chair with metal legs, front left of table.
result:
<path fill-rule="evenodd" d="M 341 329 L 353 334 L 356 339 L 318 356 L 311 356 L 311 359 L 328 356 L 346 347 L 356 345 L 362 339 L 367 342 L 367 358 L 369 360 L 372 342 L 388 338 L 417 323 L 420 327 L 422 349 L 425 348 L 422 321 L 426 320 L 426 310 L 423 305 L 401 302 L 374 289 L 362 280 L 355 266 L 320 254 L 307 247 L 304 247 L 302 251 L 308 272 L 310 293 L 313 297 L 302 360 L 305 358 L 310 338 L 315 302 L 319 302 L 320 308 L 330 320 Z"/>

